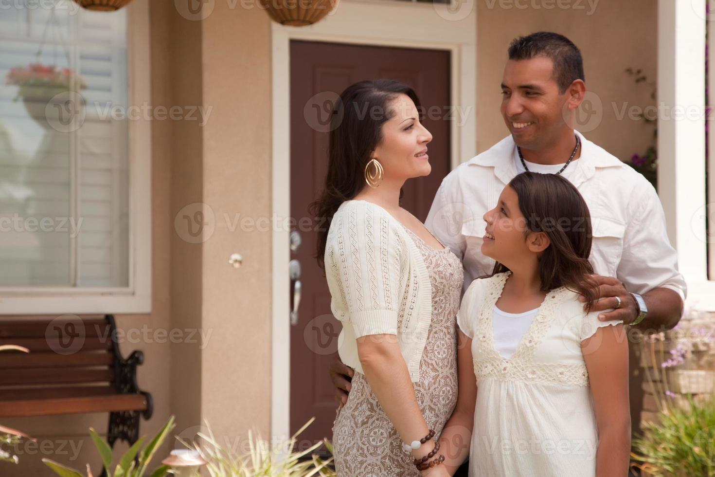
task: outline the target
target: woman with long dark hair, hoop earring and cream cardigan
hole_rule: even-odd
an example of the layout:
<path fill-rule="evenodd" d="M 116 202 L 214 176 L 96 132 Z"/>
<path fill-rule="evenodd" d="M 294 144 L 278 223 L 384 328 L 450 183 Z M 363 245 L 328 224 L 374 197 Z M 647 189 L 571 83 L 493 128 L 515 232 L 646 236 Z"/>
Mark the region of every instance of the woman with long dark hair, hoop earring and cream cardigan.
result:
<path fill-rule="evenodd" d="M 355 368 L 333 426 L 340 476 L 447 475 L 437 444 L 457 399 L 460 260 L 400 207 L 406 180 L 430 173 L 413 89 L 392 80 L 345 89 L 332 115 L 317 247 Z M 320 262 L 320 259 L 319 259 Z"/>

